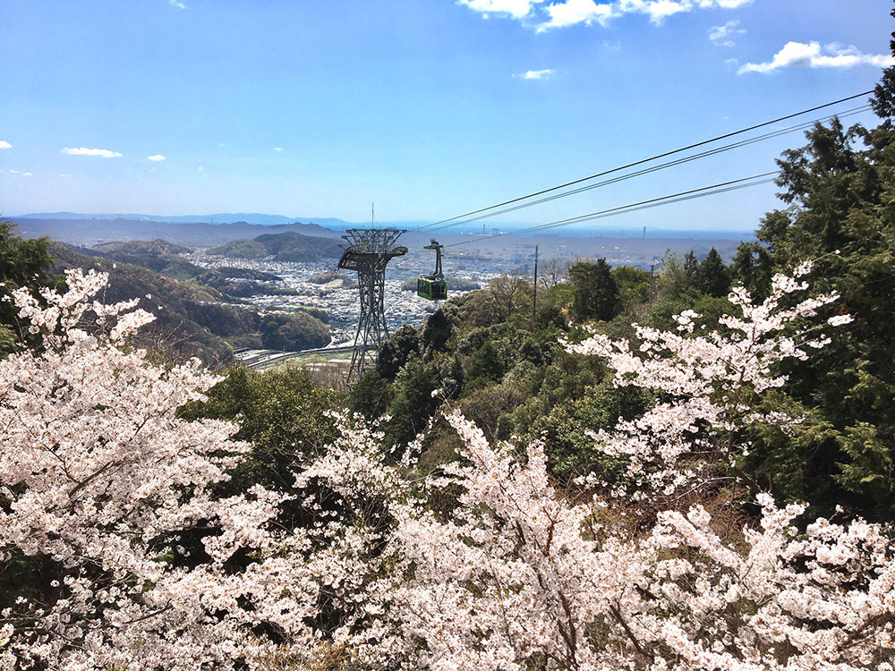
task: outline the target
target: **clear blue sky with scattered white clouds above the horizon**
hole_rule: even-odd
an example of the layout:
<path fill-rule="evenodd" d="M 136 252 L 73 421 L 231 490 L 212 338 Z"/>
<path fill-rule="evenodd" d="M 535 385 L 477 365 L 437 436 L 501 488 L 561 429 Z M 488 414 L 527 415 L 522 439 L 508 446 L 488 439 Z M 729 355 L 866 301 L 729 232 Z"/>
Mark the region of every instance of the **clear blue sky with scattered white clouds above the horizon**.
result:
<path fill-rule="evenodd" d="M 871 89 L 888 0 L 0 0 L 0 212 L 441 219 Z M 842 106 L 840 109 L 845 109 Z M 854 120 L 872 121 L 869 115 Z M 798 134 L 517 212 L 774 169 Z M 754 228 L 773 186 L 605 221 Z"/>

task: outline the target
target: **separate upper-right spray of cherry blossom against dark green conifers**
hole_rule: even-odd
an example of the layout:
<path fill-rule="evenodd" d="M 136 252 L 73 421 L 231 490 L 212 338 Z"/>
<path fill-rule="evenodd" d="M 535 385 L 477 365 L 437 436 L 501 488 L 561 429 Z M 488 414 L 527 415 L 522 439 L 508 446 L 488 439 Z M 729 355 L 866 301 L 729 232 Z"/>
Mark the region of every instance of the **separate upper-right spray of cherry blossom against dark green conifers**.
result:
<path fill-rule="evenodd" d="M 786 383 L 777 372 L 781 361 L 804 361 L 812 349 L 830 343 L 806 320 L 839 295 L 794 297 L 808 288 L 799 278 L 810 270 L 805 263 L 793 276 L 774 276 L 770 295 L 760 303 L 737 286 L 729 294 L 736 314 L 721 317 L 717 331 L 697 328 L 700 316 L 685 310 L 674 318 L 678 327 L 673 332 L 635 325 L 635 348 L 628 340 L 600 334 L 566 343 L 569 352 L 606 359 L 615 370 L 616 386 L 641 386 L 670 398 L 635 420 L 619 420 L 614 429 L 592 435 L 603 453 L 626 458 L 639 497 L 669 496 L 693 484 L 702 465 L 736 463 L 748 451 L 733 439 L 739 429 L 765 423 L 787 431 L 799 421 L 781 412 L 754 412 L 749 397 Z M 826 323 L 837 327 L 849 321 L 850 316 L 840 315 Z M 625 488 L 618 493 L 634 492 Z"/>

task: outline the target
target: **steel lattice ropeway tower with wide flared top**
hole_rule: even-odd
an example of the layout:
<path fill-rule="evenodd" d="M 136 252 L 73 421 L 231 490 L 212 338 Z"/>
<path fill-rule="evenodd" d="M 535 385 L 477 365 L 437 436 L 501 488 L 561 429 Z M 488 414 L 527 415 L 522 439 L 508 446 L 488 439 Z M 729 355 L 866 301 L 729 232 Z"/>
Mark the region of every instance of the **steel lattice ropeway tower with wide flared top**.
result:
<path fill-rule="evenodd" d="M 351 228 L 342 237 L 348 242 L 338 261 L 339 268 L 357 271 L 357 286 L 361 294 L 361 316 L 354 334 L 354 354 L 348 370 L 348 384 L 361 378 L 363 371 L 375 364 L 373 352 L 388 338 L 383 292 L 386 285 L 386 266 L 396 256 L 407 253 L 406 247 L 395 245 L 405 231 L 397 228 Z"/>

